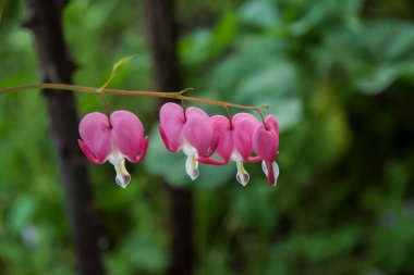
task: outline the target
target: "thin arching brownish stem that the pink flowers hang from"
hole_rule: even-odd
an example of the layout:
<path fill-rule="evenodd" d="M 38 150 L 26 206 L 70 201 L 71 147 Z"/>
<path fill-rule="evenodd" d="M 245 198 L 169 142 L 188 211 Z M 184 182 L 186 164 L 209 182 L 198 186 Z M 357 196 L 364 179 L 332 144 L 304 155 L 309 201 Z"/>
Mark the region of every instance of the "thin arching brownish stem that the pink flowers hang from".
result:
<path fill-rule="evenodd" d="M 11 88 L 0 89 L 0 95 L 21 91 L 21 90 L 29 90 L 29 89 L 58 89 L 58 90 L 71 90 L 71 91 L 81 91 L 81 92 L 89 92 L 89 93 L 113 93 L 113 95 L 123 95 L 123 96 L 142 96 L 142 97 L 155 97 L 155 98 L 168 98 L 168 99 L 176 99 L 176 100 L 186 100 L 192 102 L 200 102 L 207 103 L 211 105 L 220 105 L 226 108 L 232 107 L 236 109 L 244 110 L 256 110 L 260 111 L 260 109 L 267 109 L 268 105 L 263 107 L 249 107 L 249 105 L 241 105 L 234 104 L 226 101 L 211 100 L 211 99 L 203 99 L 203 98 L 194 98 L 183 96 L 182 91 L 178 92 L 163 92 L 163 91 L 142 91 L 142 90 L 120 90 L 120 89 L 100 89 L 77 85 L 68 85 L 68 84 L 29 84 L 29 85 L 21 85 Z"/>

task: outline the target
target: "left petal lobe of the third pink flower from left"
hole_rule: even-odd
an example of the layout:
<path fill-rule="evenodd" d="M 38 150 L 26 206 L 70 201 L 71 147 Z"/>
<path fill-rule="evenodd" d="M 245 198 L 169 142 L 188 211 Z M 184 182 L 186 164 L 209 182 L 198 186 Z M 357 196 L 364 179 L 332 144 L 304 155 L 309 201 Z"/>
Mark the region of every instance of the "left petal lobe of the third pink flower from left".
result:
<path fill-rule="evenodd" d="M 215 137 L 218 137 L 216 152 L 226 162 L 230 161 L 233 152 L 234 143 L 231 136 L 230 121 L 222 115 L 214 115 L 210 117 Z"/>

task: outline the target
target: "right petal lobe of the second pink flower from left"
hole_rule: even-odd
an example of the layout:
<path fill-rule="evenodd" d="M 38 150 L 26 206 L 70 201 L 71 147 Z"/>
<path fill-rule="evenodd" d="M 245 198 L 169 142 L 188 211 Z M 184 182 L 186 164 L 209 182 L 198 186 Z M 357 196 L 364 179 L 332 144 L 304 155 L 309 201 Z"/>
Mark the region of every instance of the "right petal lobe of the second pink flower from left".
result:
<path fill-rule="evenodd" d="M 200 157 L 207 155 L 212 140 L 212 125 L 210 118 L 202 109 L 191 107 L 185 111 L 186 122 L 183 136 L 191 146 L 197 149 Z"/>

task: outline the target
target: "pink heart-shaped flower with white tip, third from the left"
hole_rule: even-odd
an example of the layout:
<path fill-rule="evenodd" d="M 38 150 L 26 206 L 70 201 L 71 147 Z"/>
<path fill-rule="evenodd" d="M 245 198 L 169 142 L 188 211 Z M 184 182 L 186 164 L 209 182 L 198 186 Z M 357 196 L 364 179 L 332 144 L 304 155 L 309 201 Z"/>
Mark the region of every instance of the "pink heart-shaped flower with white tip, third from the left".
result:
<path fill-rule="evenodd" d="M 248 183 L 249 175 L 243 167 L 243 161 L 260 161 L 259 157 L 252 158 L 252 137 L 259 122 L 252 114 L 238 113 L 231 121 L 222 115 L 211 116 L 211 123 L 215 135 L 219 143 L 216 153 L 222 160 L 211 158 L 199 158 L 198 161 L 206 164 L 222 165 L 230 160 L 234 161 L 238 166 L 236 179 L 245 186 Z"/>

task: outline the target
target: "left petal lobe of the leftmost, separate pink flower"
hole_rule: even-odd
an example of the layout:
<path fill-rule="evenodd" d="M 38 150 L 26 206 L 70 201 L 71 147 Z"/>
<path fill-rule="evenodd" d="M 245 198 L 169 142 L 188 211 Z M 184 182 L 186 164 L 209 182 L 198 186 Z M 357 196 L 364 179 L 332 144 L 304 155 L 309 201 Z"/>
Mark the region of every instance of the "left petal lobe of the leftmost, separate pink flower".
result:
<path fill-rule="evenodd" d="M 85 115 L 80 123 L 80 135 L 83 141 L 82 146 L 80 142 L 81 149 L 85 154 L 87 150 L 96 160 L 105 162 L 112 149 L 110 132 L 107 115 L 98 112 Z M 86 157 L 88 155 L 86 154 Z M 89 157 L 88 159 L 92 160 Z"/>

